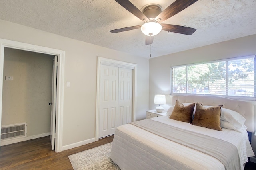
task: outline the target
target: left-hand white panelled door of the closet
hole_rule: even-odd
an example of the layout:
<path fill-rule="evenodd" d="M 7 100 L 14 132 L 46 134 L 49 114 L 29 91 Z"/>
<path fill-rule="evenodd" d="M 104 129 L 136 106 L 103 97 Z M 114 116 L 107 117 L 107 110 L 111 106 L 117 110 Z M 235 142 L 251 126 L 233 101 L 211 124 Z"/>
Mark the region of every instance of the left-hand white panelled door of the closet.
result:
<path fill-rule="evenodd" d="M 118 67 L 101 65 L 99 137 L 113 135 L 118 121 Z"/>

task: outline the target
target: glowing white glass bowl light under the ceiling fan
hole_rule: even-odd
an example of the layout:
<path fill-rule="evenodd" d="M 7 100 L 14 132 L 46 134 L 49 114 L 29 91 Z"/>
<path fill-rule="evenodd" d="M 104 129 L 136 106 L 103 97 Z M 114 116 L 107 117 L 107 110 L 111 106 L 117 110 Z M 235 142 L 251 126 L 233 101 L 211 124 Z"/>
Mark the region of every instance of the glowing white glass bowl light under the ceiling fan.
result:
<path fill-rule="evenodd" d="M 141 31 L 147 36 L 154 36 L 160 33 L 162 26 L 157 22 L 146 22 L 141 26 Z"/>

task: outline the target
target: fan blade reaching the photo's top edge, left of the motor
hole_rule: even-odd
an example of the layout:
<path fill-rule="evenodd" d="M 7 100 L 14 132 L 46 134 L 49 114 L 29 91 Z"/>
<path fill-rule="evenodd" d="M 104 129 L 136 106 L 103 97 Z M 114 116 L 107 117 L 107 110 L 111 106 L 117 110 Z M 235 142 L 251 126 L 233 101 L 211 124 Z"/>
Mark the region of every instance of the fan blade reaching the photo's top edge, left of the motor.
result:
<path fill-rule="evenodd" d="M 149 21 L 148 17 L 146 17 L 134 4 L 132 4 L 128 0 L 115 0 L 118 4 L 120 4 L 122 7 L 124 7 L 126 10 L 128 10 L 130 13 L 135 15 L 136 17 L 140 18 L 140 20 Z"/>

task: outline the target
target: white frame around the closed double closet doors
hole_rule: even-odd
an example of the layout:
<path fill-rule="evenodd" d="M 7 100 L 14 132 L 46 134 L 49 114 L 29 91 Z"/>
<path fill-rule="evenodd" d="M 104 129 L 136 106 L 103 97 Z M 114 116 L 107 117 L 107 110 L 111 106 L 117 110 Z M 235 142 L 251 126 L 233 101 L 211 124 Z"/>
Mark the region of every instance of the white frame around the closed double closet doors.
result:
<path fill-rule="evenodd" d="M 100 72 L 102 71 L 100 65 L 118 66 L 122 68 L 130 68 L 133 70 L 132 80 L 132 121 L 136 121 L 137 110 L 137 64 L 127 63 L 113 59 L 98 57 L 97 64 L 97 94 L 96 94 L 96 127 L 95 127 L 95 141 L 99 140 L 99 124 L 100 124 Z"/>

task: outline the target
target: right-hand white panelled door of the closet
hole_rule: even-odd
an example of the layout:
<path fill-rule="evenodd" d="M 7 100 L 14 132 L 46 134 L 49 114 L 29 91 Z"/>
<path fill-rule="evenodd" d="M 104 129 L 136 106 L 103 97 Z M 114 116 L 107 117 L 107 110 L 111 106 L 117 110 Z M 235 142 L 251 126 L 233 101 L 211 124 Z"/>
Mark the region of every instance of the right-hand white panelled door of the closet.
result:
<path fill-rule="evenodd" d="M 119 68 L 118 126 L 132 122 L 132 69 Z"/>

